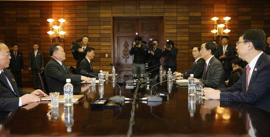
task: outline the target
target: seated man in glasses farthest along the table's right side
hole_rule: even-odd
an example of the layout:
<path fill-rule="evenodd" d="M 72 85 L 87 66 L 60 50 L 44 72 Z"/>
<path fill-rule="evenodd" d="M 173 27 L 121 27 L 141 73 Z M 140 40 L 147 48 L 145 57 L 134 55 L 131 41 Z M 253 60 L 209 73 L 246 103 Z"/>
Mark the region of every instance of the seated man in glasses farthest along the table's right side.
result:
<path fill-rule="evenodd" d="M 203 72 L 204 72 L 204 60 L 200 56 L 201 46 L 195 45 L 192 47 L 192 55 L 195 59 L 194 63 L 192 64 L 191 68 L 193 70 L 194 78 L 202 78 Z M 182 75 L 181 73 L 174 72 L 175 76 Z M 185 79 L 188 79 L 190 77 L 190 74 L 184 74 L 183 77 Z M 181 79 L 180 77 L 177 77 L 177 79 Z"/>

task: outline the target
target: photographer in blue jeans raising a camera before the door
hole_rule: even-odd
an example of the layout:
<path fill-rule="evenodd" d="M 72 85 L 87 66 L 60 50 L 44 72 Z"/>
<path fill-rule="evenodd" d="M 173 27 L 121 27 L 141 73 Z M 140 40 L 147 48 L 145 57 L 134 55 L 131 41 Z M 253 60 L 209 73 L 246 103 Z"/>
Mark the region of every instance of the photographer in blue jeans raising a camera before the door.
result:
<path fill-rule="evenodd" d="M 141 44 L 142 37 L 136 33 L 135 42 L 132 43 L 132 48 L 129 54 L 133 55 L 132 71 L 134 74 L 140 75 L 145 73 L 145 56 L 147 55 L 147 46 Z"/>

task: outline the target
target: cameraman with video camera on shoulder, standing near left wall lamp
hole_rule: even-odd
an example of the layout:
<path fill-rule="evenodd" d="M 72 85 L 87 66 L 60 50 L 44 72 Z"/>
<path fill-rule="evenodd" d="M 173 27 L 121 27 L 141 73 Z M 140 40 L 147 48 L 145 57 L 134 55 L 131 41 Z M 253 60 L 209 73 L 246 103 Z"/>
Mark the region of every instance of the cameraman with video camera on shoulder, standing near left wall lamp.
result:
<path fill-rule="evenodd" d="M 82 46 L 80 47 L 78 42 L 82 42 Z M 84 36 L 82 39 L 76 39 L 76 42 L 74 43 L 71 41 L 71 50 L 72 50 L 72 55 L 75 60 L 78 60 L 76 64 L 76 72 L 77 74 L 80 74 L 80 63 L 86 56 L 86 48 L 88 48 L 88 43 L 89 43 L 89 37 Z"/>

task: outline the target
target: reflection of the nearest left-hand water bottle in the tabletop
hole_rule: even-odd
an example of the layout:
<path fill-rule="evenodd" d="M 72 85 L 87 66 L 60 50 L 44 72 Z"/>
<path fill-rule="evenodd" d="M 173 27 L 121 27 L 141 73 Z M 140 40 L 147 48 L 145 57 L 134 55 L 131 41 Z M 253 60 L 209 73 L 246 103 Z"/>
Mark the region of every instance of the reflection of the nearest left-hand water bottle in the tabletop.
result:
<path fill-rule="evenodd" d="M 65 126 L 66 131 L 71 132 L 71 127 L 73 126 L 73 105 L 72 106 L 64 106 L 64 114 L 65 114 Z"/>

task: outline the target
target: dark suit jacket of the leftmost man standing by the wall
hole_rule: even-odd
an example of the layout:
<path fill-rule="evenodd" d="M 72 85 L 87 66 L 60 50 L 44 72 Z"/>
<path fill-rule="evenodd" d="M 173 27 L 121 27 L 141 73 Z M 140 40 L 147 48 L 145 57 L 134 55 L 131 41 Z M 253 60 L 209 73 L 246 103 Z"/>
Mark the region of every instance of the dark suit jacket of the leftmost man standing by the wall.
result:
<path fill-rule="evenodd" d="M 24 57 L 23 57 L 23 53 L 17 51 L 16 53 L 16 59 L 15 59 L 15 55 L 14 52 L 11 51 L 10 52 L 10 64 L 8 69 L 10 69 L 11 71 L 22 71 L 22 69 L 24 69 Z"/>

